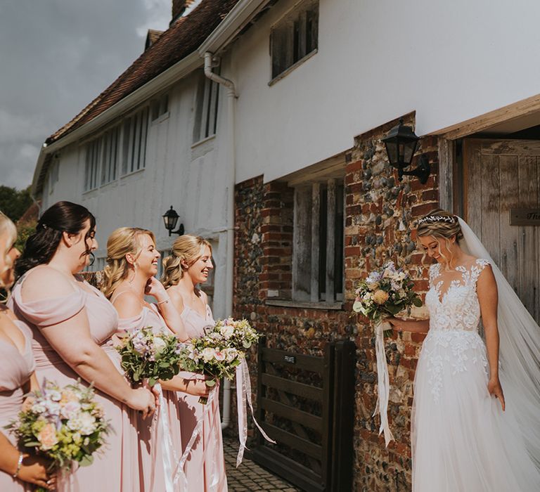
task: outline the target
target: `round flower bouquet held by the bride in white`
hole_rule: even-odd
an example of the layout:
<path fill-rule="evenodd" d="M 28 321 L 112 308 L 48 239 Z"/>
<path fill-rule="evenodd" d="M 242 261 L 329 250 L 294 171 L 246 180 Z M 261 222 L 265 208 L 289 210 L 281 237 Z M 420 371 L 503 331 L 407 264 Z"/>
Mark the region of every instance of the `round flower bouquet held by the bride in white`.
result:
<path fill-rule="evenodd" d="M 384 318 L 396 316 L 400 311 L 407 310 L 410 315 L 412 306 L 422 306 L 422 300 L 413 287 L 409 273 L 403 268 L 396 268 L 393 261 L 387 261 L 361 281 L 352 309 L 375 324 L 381 323 Z M 386 330 L 385 335 L 391 332 Z"/>

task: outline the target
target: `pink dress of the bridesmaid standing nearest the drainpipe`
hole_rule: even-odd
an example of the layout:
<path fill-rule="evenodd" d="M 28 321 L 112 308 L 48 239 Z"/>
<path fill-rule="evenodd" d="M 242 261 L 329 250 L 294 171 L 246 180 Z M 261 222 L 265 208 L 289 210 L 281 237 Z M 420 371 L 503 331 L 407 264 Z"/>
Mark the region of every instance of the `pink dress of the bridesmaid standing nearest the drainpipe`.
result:
<path fill-rule="evenodd" d="M 213 325 L 212 310 L 206 305 L 206 316 L 185 306 L 181 318 L 186 326 L 188 337 L 198 338 L 205 334 L 205 327 Z M 196 373 L 181 372 L 179 375 L 195 380 L 200 378 Z M 197 422 L 203 418 L 205 405 L 199 403 L 199 397 L 179 393 L 180 422 L 182 426 L 182 446 L 186 448 Z M 185 472 L 189 484 L 189 492 L 224 492 L 227 490 L 225 460 L 223 455 L 223 439 L 221 436 L 221 416 L 219 414 L 219 392 L 206 403 L 208 408 L 203 422 L 200 438 L 186 460 Z"/>

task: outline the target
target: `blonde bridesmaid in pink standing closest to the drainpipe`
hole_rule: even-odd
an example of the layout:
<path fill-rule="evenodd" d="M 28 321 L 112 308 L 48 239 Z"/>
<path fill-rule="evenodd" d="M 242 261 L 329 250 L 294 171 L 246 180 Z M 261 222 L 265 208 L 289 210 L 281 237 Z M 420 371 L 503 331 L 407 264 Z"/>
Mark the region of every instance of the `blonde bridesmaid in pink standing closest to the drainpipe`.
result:
<path fill-rule="evenodd" d="M 181 313 L 190 338 L 204 335 L 205 327 L 214 324 L 212 311 L 206 294 L 197 285 L 208 279 L 212 265 L 210 242 L 194 235 L 183 235 L 174 241 L 172 254 L 163 262 L 163 285 Z M 195 373 L 182 373 L 186 379 L 196 384 L 203 378 Z M 190 492 L 222 492 L 227 490 L 221 417 L 219 415 L 219 394 L 216 391 L 203 422 L 202 439 L 195 442 L 186 461 L 186 477 Z M 182 426 L 182 446 L 188 444 L 195 425 L 203 419 L 205 406 L 198 398 L 189 394 L 180 395 L 180 421 Z"/>

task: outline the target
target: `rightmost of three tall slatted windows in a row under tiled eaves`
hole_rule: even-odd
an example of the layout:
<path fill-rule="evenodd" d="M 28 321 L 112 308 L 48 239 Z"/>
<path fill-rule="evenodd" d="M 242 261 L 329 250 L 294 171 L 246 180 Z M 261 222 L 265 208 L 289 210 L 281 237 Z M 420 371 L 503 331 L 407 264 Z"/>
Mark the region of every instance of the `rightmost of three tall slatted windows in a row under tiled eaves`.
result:
<path fill-rule="evenodd" d="M 122 145 L 122 175 L 146 165 L 146 139 L 148 138 L 148 107 L 124 119 Z"/>

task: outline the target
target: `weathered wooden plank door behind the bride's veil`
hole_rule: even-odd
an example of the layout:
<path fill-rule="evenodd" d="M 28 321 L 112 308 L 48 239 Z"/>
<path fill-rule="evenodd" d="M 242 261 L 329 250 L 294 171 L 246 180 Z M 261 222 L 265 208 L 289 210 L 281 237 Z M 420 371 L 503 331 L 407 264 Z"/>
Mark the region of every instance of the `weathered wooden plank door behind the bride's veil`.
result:
<path fill-rule="evenodd" d="M 463 141 L 463 211 L 540 323 L 540 226 L 510 225 L 510 209 L 540 208 L 540 141 Z"/>

